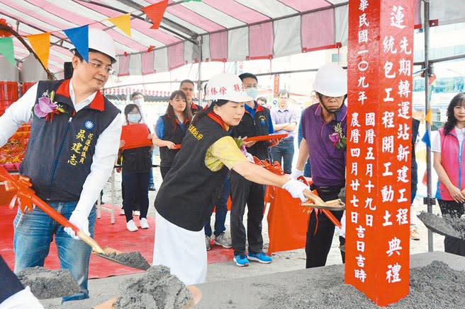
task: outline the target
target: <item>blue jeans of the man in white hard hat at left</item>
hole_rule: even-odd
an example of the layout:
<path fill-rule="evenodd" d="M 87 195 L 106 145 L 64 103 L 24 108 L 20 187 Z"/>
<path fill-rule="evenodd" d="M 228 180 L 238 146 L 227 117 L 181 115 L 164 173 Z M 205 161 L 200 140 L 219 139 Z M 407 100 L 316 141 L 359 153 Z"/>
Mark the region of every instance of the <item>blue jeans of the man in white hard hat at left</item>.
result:
<path fill-rule="evenodd" d="M 50 206 L 62 216 L 69 219 L 77 202 L 51 203 Z M 21 220 L 20 220 L 21 219 Z M 89 214 L 89 232 L 94 237 L 94 226 L 96 219 L 95 206 Z M 15 274 L 26 267 L 43 267 L 45 257 L 50 250 L 50 243 L 55 235 L 58 257 L 62 269 L 68 269 L 74 279 L 77 280 L 82 291 L 72 296 L 66 296 L 63 301 L 75 301 L 89 298 L 87 280 L 89 276 L 89 260 L 91 247 L 81 240 L 74 240 L 58 224 L 41 209 L 35 207 L 33 212 L 26 212 L 21 218 L 21 210 L 13 222 L 14 225 L 14 252 L 15 252 Z"/>

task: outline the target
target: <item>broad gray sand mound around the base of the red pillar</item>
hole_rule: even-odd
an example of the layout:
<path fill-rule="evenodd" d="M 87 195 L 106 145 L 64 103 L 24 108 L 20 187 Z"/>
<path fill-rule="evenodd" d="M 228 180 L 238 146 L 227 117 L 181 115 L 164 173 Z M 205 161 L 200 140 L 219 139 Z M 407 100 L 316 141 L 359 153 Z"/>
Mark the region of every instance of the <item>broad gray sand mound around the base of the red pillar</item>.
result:
<path fill-rule="evenodd" d="M 267 293 L 262 308 L 379 308 L 366 296 L 337 275 L 340 265 L 325 267 L 335 276 L 324 276 L 318 288 L 296 284 L 292 288 L 266 284 L 276 288 Z M 274 286 L 274 287 L 273 287 Z M 269 296 L 273 295 L 273 296 Z M 465 308 L 465 272 L 434 261 L 425 267 L 410 269 L 410 294 L 388 305 L 390 308 Z"/>

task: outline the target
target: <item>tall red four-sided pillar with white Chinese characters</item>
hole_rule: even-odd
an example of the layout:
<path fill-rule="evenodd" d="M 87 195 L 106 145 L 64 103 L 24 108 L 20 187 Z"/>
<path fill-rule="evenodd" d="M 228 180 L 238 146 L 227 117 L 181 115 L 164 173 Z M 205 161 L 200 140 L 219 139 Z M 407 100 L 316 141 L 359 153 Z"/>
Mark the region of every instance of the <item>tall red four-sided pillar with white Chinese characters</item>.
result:
<path fill-rule="evenodd" d="M 345 282 L 408 295 L 415 0 L 350 0 Z"/>

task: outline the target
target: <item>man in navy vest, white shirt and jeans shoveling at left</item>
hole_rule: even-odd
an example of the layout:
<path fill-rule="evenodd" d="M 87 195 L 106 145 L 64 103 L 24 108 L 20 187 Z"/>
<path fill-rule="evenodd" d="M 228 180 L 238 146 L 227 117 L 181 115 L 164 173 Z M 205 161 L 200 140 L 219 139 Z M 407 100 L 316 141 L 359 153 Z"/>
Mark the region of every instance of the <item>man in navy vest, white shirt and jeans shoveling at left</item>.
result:
<path fill-rule="evenodd" d="M 111 175 L 121 136 L 120 110 L 100 92 L 115 62 L 113 39 L 91 28 L 89 59 L 74 52 L 71 79 L 39 81 L 0 117 L 0 146 L 32 119 L 21 175 L 30 178 L 40 199 L 91 236 L 95 201 Z M 89 298 L 89 245 L 38 207 L 25 214 L 18 209 L 13 224 L 15 273 L 43 266 L 55 238 L 61 267 L 69 269 L 82 288 L 63 301 Z"/>

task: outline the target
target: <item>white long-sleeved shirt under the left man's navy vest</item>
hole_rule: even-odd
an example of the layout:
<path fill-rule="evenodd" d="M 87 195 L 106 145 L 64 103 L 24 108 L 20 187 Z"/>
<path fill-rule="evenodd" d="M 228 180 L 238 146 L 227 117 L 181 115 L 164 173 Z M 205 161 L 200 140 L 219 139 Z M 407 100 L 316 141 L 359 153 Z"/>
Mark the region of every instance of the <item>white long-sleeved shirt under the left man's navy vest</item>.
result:
<path fill-rule="evenodd" d="M 0 147 L 4 146 L 11 135 L 33 117 L 33 106 L 37 98 L 38 83 L 32 86 L 19 100 L 11 104 L 5 114 L 0 117 Z M 74 110 L 78 112 L 94 100 L 96 92 L 89 95 L 81 102 L 75 103 L 72 81 L 69 83 L 69 95 Z M 90 213 L 100 191 L 108 181 L 113 170 L 113 163 L 118 155 L 123 119 L 115 117 L 108 127 L 100 134 L 92 157 L 91 172 L 87 175 L 76 209 Z M 70 175 L 71 176 L 71 175 Z"/>

